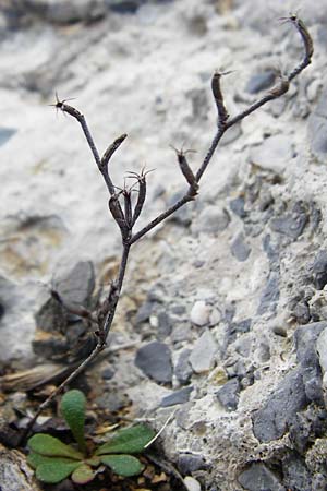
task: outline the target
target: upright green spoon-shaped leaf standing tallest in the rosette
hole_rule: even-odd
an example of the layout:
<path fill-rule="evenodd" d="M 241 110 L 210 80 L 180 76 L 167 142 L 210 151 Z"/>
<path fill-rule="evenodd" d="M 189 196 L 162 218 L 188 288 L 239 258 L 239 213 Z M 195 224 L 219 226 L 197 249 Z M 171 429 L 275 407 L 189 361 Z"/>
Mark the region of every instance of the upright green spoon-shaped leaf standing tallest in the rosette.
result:
<path fill-rule="evenodd" d="M 84 438 L 85 406 L 85 395 L 76 388 L 66 392 L 60 404 L 61 412 L 83 452 L 86 448 Z"/>

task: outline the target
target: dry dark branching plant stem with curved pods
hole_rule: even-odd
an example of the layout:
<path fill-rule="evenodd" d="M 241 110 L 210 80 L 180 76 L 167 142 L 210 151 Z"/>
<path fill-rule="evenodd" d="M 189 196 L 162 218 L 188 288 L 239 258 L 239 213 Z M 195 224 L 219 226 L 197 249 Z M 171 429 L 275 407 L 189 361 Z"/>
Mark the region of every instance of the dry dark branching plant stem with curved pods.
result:
<path fill-rule="evenodd" d="M 312 38 L 304 25 L 304 23 L 298 19 L 296 16 L 292 15 L 287 19 L 288 22 L 290 22 L 295 29 L 299 32 L 303 45 L 304 45 L 304 58 L 301 61 L 301 63 L 288 75 L 279 79 L 277 85 L 272 87 L 271 91 L 269 91 L 267 94 L 265 94 L 259 100 L 254 103 L 252 106 L 250 106 L 244 111 L 240 112 L 239 115 L 234 116 L 230 119 L 228 110 L 225 106 L 223 100 L 223 94 L 220 87 L 220 80 L 223 73 L 215 73 L 213 81 L 211 81 L 211 88 L 213 88 L 213 95 L 216 101 L 217 111 L 218 111 L 218 130 L 213 139 L 213 142 L 209 146 L 209 149 L 203 159 L 202 164 L 198 167 L 198 170 L 194 175 L 191 170 L 185 154 L 183 152 L 177 152 L 179 165 L 181 168 L 181 171 L 189 184 L 189 188 L 182 199 L 180 199 L 174 205 L 169 207 L 167 211 L 161 213 L 157 218 L 152 220 L 149 224 L 147 224 L 145 227 L 143 227 L 140 231 L 136 233 L 132 233 L 133 226 L 138 218 L 141 211 L 143 208 L 144 202 L 145 202 L 145 195 L 146 195 L 146 182 L 145 182 L 145 176 L 146 173 L 143 173 L 141 176 L 134 175 L 133 177 L 137 179 L 138 184 L 138 200 L 134 208 L 134 213 L 132 209 L 132 201 L 131 201 L 131 189 L 130 190 L 122 190 L 121 193 L 116 193 L 116 188 L 113 185 L 113 182 L 109 175 L 109 160 L 113 153 L 119 148 L 119 146 L 122 144 L 122 142 L 125 140 L 126 135 L 123 134 L 119 136 L 114 142 L 107 148 L 102 158 L 100 158 L 99 153 L 97 151 L 97 147 L 95 145 L 94 139 L 88 130 L 85 117 L 75 108 L 72 106 L 69 106 L 65 104 L 65 100 L 60 101 L 57 99 L 57 104 L 55 105 L 57 108 L 61 109 L 63 112 L 69 113 L 73 118 L 75 118 L 78 123 L 82 127 L 83 133 L 86 137 L 86 141 L 88 143 L 88 146 L 92 151 L 92 154 L 94 156 L 94 159 L 97 164 L 97 167 L 99 171 L 101 172 L 104 180 L 106 182 L 106 185 L 108 188 L 109 194 L 110 194 L 110 201 L 109 201 L 109 209 L 111 212 L 111 215 L 113 219 L 117 221 L 121 238 L 122 238 L 122 256 L 119 267 L 119 273 L 114 282 L 112 282 L 110 291 L 108 294 L 107 300 L 104 302 L 102 311 L 98 314 L 98 343 L 94 350 L 89 354 L 89 356 L 75 369 L 72 371 L 72 373 L 53 391 L 52 394 L 39 406 L 38 410 L 36 411 L 34 418 L 31 420 L 25 433 L 23 434 L 23 439 L 26 438 L 28 432 L 31 431 L 33 424 L 35 423 L 37 417 L 40 415 L 40 412 L 46 409 L 50 403 L 55 399 L 55 397 L 60 394 L 64 387 L 71 383 L 80 373 L 82 373 L 90 363 L 92 361 L 99 355 L 100 351 L 104 350 L 106 347 L 107 338 L 112 325 L 112 321 L 116 314 L 116 309 L 118 306 L 118 301 L 120 298 L 128 260 L 129 260 L 129 253 L 132 244 L 134 244 L 137 240 L 140 240 L 142 237 L 144 237 L 148 231 L 150 231 L 153 228 L 155 228 L 157 225 L 159 225 L 161 221 L 164 221 L 166 218 L 171 216 L 173 213 L 175 213 L 179 208 L 184 206 L 190 201 L 193 201 L 197 194 L 198 183 L 204 175 L 207 166 L 209 165 L 216 148 L 226 133 L 231 127 L 240 122 L 242 119 L 250 116 L 252 112 L 256 111 L 258 108 L 264 106 L 266 103 L 277 99 L 278 97 L 282 96 L 288 89 L 290 82 L 299 75 L 310 63 L 313 56 L 313 41 Z M 131 172 L 133 175 L 133 172 Z M 120 205 L 120 197 L 121 194 L 124 199 L 124 205 Z M 124 209 L 124 211 L 123 211 Z M 94 319 L 94 318 L 92 318 Z"/>

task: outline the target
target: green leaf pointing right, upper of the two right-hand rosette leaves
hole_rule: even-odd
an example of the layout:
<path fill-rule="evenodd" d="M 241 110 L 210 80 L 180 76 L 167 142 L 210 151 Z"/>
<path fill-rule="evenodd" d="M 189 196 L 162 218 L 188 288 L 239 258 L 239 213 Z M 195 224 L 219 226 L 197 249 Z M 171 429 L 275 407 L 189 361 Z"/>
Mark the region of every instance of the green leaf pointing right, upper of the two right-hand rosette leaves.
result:
<path fill-rule="evenodd" d="M 154 430 L 146 424 L 123 428 L 118 430 L 109 442 L 101 445 L 96 454 L 138 454 L 155 434 Z"/>

